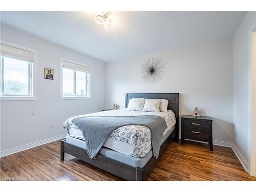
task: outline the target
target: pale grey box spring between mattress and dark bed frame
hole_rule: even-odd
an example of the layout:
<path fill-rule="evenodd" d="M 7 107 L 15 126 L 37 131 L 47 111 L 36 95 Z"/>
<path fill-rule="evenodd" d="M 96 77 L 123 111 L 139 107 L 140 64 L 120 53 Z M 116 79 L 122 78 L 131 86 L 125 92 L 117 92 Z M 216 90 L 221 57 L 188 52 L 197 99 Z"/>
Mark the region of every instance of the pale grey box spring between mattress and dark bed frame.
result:
<path fill-rule="evenodd" d="M 174 131 L 175 126 L 173 126 L 161 139 L 161 144 L 169 137 L 170 134 Z M 66 142 L 72 145 L 78 146 L 86 150 L 86 145 L 84 144 L 84 140 L 71 137 L 69 135 L 66 136 Z M 130 155 L 125 155 L 123 153 L 119 153 L 107 147 L 101 147 L 99 151 L 100 155 L 104 155 L 116 161 L 131 165 L 133 167 L 143 168 L 146 163 L 152 158 L 153 152 L 150 150 L 144 157 L 136 158 Z"/>

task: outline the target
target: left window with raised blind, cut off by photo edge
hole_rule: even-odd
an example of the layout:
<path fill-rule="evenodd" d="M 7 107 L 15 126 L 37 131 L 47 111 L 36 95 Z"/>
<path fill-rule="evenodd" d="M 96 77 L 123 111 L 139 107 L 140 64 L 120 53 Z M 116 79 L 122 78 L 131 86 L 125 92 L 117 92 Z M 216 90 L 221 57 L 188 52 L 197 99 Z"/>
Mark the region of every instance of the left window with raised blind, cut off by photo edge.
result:
<path fill-rule="evenodd" d="M 36 50 L 1 40 L 0 99 L 31 100 L 35 97 Z"/>

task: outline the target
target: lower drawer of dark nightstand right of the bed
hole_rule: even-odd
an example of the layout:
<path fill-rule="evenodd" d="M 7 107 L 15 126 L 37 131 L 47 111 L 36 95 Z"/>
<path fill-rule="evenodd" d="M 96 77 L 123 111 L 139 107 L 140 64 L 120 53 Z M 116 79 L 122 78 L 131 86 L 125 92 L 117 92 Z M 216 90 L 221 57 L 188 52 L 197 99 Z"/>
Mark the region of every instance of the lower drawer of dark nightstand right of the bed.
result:
<path fill-rule="evenodd" d="M 184 138 L 209 141 L 209 130 L 184 127 Z"/>

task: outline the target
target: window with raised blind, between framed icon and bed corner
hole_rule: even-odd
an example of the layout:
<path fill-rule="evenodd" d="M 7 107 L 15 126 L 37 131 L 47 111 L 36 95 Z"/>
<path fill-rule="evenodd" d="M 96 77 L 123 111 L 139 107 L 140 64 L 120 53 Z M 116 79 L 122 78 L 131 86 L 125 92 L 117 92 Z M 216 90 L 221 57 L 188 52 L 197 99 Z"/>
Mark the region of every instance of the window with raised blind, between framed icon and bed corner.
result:
<path fill-rule="evenodd" d="M 90 98 L 91 66 L 61 58 L 61 99 Z"/>

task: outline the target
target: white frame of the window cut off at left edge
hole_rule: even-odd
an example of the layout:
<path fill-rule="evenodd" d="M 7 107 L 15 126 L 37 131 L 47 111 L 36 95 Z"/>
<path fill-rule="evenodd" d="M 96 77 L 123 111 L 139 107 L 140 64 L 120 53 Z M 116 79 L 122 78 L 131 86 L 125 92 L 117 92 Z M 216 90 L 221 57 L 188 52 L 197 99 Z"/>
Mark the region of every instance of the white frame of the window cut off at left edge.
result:
<path fill-rule="evenodd" d="M 33 52 L 33 63 L 30 62 L 29 68 L 31 68 L 31 70 L 29 70 L 31 73 L 28 74 L 30 75 L 29 81 L 30 81 L 30 86 L 29 86 L 29 92 L 30 95 L 2 95 L 2 93 L 4 92 L 4 87 L 3 87 L 3 82 L 2 82 L 2 73 L 4 72 L 4 69 L 1 69 L 1 78 L 0 78 L 0 101 L 15 101 L 15 100 L 36 100 L 36 68 L 37 68 L 37 50 L 36 49 L 32 49 L 29 47 L 25 47 L 19 44 L 14 44 L 13 42 L 10 41 L 6 41 L 6 40 L 2 40 L 0 39 L 0 43 L 7 45 L 7 46 L 12 46 L 18 49 L 23 49 L 26 51 L 30 51 Z M 10 57 L 10 58 L 14 58 L 17 59 L 15 57 Z M 2 62 L 2 61 L 1 61 Z M 28 61 L 29 62 L 29 61 Z M 1 65 L 2 67 L 2 65 Z"/>

